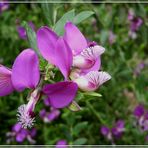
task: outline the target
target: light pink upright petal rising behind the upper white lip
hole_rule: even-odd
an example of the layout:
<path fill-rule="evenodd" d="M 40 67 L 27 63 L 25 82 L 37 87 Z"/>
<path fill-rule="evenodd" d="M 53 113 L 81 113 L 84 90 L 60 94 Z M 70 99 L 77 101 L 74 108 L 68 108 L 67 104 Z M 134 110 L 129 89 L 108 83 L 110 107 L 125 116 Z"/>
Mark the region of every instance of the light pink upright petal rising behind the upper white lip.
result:
<path fill-rule="evenodd" d="M 87 47 L 87 41 L 80 30 L 71 22 L 65 25 L 64 39 L 67 41 L 74 55 L 79 54 Z"/>

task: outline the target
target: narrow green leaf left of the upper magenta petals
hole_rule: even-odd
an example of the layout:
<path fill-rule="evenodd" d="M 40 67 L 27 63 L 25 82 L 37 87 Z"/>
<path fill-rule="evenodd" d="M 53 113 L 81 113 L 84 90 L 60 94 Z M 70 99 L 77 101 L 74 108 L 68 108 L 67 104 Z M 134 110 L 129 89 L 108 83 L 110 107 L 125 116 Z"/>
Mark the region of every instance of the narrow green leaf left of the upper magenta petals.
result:
<path fill-rule="evenodd" d="M 39 51 L 38 51 L 38 48 L 37 48 L 37 43 L 36 43 L 36 33 L 35 33 L 35 31 L 25 21 L 23 22 L 22 25 L 26 29 L 26 33 L 27 33 L 27 37 L 28 37 L 30 47 L 32 49 L 34 49 L 39 54 Z"/>

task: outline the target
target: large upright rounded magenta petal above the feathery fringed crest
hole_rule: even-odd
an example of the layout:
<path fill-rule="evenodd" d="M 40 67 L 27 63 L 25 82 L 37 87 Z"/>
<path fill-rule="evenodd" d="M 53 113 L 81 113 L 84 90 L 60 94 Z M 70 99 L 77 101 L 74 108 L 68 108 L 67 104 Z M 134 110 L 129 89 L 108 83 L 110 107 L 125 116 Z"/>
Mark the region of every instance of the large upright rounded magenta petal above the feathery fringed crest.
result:
<path fill-rule="evenodd" d="M 12 67 L 12 83 L 17 91 L 34 89 L 40 79 L 39 60 L 32 49 L 22 51 Z"/>

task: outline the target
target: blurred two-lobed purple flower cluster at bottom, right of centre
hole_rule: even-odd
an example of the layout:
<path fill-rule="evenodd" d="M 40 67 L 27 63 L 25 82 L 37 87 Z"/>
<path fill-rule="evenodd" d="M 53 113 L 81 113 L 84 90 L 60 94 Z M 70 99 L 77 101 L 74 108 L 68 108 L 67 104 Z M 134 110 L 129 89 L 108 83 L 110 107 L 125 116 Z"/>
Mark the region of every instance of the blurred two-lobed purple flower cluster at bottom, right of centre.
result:
<path fill-rule="evenodd" d="M 107 138 L 107 140 L 111 141 L 112 144 L 114 143 L 115 139 L 121 138 L 123 132 L 125 131 L 124 128 L 124 121 L 123 120 L 118 120 L 113 128 L 109 128 L 107 126 L 102 126 L 101 127 L 101 134 Z"/>

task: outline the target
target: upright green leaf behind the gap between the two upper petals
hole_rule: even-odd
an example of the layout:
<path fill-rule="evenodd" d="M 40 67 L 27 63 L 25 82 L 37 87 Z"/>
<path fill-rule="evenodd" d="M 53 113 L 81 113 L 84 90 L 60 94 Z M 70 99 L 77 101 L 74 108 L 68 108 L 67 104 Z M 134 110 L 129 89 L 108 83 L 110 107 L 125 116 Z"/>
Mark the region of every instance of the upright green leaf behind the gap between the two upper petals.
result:
<path fill-rule="evenodd" d="M 58 34 L 58 35 L 63 35 L 64 33 L 64 25 L 66 24 L 66 22 L 68 21 L 73 21 L 75 16 L 75 10 L 71 10 L 68 11 L 67 13 L 65 13 L 60 19 L 59 21 L 55 24 L 54 27 L 54 31 Z"/>

